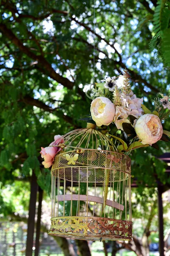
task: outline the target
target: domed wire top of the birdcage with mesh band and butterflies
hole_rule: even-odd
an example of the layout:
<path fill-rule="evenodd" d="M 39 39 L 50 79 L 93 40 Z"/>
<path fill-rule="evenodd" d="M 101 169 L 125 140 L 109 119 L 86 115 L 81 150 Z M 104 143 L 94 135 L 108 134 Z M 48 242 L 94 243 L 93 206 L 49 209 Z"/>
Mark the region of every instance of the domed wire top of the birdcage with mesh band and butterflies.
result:
<path fill-rule="evenodd" d="M 107 134 L 96 130 L 93 124 L 71 131 L 62 139 L 64 143 L 55 145 L 62 150 L 54 158 L 53 175 L 73 182 L 92 183 L 104 182 L 106 169 L 111 170 L 110 180 L 119 181 L 130 175 L 130 158 L 119 154 Z"/>

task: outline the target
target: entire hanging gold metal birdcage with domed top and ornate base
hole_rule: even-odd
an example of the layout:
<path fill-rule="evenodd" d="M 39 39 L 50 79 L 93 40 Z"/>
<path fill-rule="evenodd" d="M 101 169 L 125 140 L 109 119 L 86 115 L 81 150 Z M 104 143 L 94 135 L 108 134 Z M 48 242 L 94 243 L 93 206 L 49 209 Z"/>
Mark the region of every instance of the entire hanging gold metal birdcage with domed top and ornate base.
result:
<path fill-rule="evenodd" d="M 130 158 L 89 124 L 64 135 L 51 170 L 49 234 L 131 240 Z M 63 140 L 62 140 L 63 141 Z"/>

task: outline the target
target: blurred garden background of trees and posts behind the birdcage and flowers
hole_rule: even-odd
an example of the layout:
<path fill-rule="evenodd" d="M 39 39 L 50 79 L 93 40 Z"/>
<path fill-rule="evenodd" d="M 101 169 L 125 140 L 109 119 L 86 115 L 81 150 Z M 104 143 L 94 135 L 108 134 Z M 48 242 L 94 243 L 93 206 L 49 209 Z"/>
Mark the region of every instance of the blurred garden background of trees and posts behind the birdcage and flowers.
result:
<path fill-rule="evenodd" d="M 150 108 L 170 94 L 169 20 L 165 0 L 0 1 L 1 256 L 170 255 L 170 144 L 130 153 L 130 242 L 48 236 L 51 173 L 40 157 L 54 135 L 86 127 L 94 76 L 127 69 Z"/>

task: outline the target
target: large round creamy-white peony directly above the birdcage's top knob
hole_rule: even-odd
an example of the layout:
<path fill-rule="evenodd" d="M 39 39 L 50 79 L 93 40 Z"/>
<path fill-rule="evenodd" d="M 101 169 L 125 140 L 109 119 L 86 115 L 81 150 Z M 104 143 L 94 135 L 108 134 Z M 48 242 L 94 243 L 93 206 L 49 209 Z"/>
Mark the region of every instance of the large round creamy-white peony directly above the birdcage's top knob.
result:
<path fill-rule="evenodd" d="M 91 102 L 91 117 L 97 126 L 110 125 L 115 115 L 115 106 L 110 99 L 97 97 Z"/>

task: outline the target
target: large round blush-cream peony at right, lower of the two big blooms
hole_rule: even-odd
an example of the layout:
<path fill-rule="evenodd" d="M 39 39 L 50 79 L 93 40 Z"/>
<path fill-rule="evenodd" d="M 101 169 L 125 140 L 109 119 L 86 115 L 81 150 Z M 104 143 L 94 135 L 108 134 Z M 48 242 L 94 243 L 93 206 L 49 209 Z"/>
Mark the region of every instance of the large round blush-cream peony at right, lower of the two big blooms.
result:
<path fill-rule="evenodd" d="M 136 122 L 135 131 L 142 144 L 152 145 L 161 139 L 163 128 L 158 116 L 145 114 Z"/>

